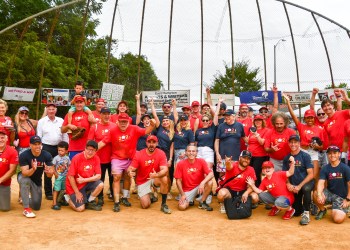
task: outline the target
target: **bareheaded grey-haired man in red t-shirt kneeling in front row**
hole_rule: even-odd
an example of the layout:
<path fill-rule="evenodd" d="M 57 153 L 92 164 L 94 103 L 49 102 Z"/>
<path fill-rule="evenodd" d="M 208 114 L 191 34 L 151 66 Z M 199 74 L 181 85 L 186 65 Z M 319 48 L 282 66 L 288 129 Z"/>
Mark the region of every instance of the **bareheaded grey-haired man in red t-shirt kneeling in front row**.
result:
<path fill-rule="evenodd" d="M 197 157 L 197 147 L 187 146 L 186 159 L 180 161 L 175 170 L 175 179 L 177 189 L 181 195 L 178 208 L 181 211 L 186 210 L 193 202 L 197 194 L 202 195 L 199 208 L 207 211 L 213 211 L 213 208 L 206 203 L 206 199 L 211 192 L 214 177 L 213 171 L 208 168 L 204 159 Z"/>

